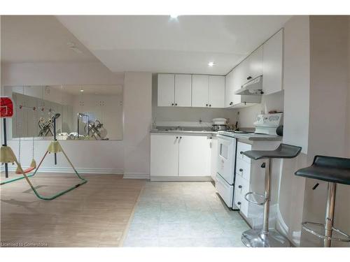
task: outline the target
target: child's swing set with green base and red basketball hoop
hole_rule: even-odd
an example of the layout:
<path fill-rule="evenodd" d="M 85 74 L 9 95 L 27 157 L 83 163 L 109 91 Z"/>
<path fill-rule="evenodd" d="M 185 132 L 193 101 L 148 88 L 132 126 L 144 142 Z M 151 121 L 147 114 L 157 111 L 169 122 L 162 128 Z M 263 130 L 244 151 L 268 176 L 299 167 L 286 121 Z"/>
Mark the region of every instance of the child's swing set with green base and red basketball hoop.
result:
<path fill-rule="evenodd" d="M 59 116 L 59 114 L 57 114 Z M 5 182 L 1 182 L 0 185 L 2 184 L 8 184 L 10 182 L 14 182 L 16 180 L 21 180 L 21 179 L 25 179 L 27 180 L 29 186 L 31 187 L 31 189 L 34 191 L 34 194 L 43 200 L 52 200 L 57 198 L 58 196 L 62 196 L 63 194 L 68 193 L 69 191 L 76 189 L 77 187 L 80 187 L 82 184 L 85 184 L 87 182 L 87 180 L 85 180 L 83 177 L 80 177 L 80 175 L 78 174 L 78 171 L 76 170 L 76 168 L 74 168 L 73 164 L 71 163 L 71 161 L 69 160 L 69 158 L 67 157 L 66 153 L 64 152 L 64 150 L 62 149 L 61 145 L 59 145 L 59 142 L 56 139 L 56 118 L 54 119 L 54 140 L 50 143 L 50 145 L 48 146 L 48 150 L 46 150 L 43 158 L 41 159 L 40 163 L 38 164 L 38 167 L 36 168 L 34 174 L 32 175 L 27 175 L 27 173 L 29 173 L 30 171 L 28 171 L 27 173 L 25 172 L 25 170 L 22 169 L 22 166 L 20 165 L 19 161 L 17 160 L 17 158 L 15 157 L 15 154 L 13 153 L 13 150 L 7 145 L 7 138 L 6 138 L 6 117 L 12 117 L 13 116 L 13 103 L 11 101 L 10 98 L 8 97 L 1 97 L 1 118 L 3 118 L 3 145 L 1 146 L 1 163 L 5 164 L 5 174 L 6 177 L 8 177 L 8 163 L 16 163 L 17 165 L 17 170 L 20 174 L 23 175 L 23 177 L 18 177 L 15 178 L 13 180 L 8 180 Z M 20 142 L 19 142 L 20 143 Z M 33 145 L 34 145 L 34 138 L 33 138 Z M 74 173 L 76 173 L 76 175 L 78 176 L 78 178 L 81 180 L 80 183 L 74 185 L 73 187 L 70 187 L 69 189 L 66 189 L 64 191 L 60 191 L 59 193 L 53 195 L 53 196 L 41 196 L 41 194 L 38 193 L 38 191 L 36 191 L 35 187 L 33 186 L 33 184 L 31 184 L 31 181 L 29 180 L 29 177 L 32 177 L 36 174 L 36 172 L 38 171 L 38 168 L 41 166 L 41 163 L 43 163 L 43 160 L 45 159 L 47 154 L 50 153 L 54 153 L 55 154 L 55 164 L 56 162 L 56 154 L 62 152 L 62 154 L 64 154 L 64 157 L 66 157 L 66 160 L 69 162 L 69 164 L 71 165 L 71 167 L 74 170 Z M 33 160 L 34 160 L 34 146 L 33 146 Z M 33 161 L 32 161 L 33 162 Z M 34 160 L 35 162 L 35 160 Z M 34 170 L 34 168 L 31 166 L 30 168 L 32 168 L 31 170 Z M 26 170 L 29 170 L 30 168 L 27 168 Z M 16 172 L 17 173 L 17 172 Z"/>

